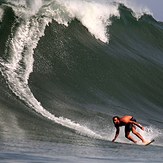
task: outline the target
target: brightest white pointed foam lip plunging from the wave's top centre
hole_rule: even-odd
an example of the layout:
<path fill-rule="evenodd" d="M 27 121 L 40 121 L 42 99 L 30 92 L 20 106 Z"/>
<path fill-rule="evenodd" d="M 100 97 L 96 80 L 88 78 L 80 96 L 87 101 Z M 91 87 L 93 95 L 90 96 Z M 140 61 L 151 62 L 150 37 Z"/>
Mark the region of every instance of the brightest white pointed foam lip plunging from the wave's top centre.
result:
<path fill-rule="evenodd" d="M 77 18 L 88 31 L 103 42 L 109 41 L 107 26 L 111 24 L 109 18 L 119 16 L 118 5 L 96 1 L 60 0 L 65 11 L 74 19 Z"/>

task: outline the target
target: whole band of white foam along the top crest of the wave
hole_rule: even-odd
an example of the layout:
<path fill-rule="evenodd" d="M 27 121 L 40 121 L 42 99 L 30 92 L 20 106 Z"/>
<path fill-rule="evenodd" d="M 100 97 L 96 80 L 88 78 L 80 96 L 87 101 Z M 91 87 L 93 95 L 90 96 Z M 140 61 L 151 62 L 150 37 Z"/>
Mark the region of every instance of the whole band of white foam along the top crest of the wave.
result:
<path fill-rule="evenodd" d="M 119 17 L 118 3 L 123 3 L 131 8 L 137 19 L 144 13 L 152 14 L 146 7 L 137 5 L 129 0 L 29 0 L 29 1 L 14 1 L 10 3 L 15 5 L 22 5 L 28 8 L 26 16 L 29 17 L 34 14 L 42 14 L 43 16 L 54 19 L 59 24 L 68 26 L 68 23 L 74 18 L 78 19 L 88 31 L 96 38 L 105 43 L 109 42 L 108 26 L 111 25 L 110 17 Z M 116 3 L 115 3 L 116 2 Z M 22 8 L 19 8 L 20 16 Z M 21 13 L 22 12 L 22 13 Z M 20 14 L 21 13 L 21 14 Z M 25 14 L 23 14 L 25 15 Z"/>

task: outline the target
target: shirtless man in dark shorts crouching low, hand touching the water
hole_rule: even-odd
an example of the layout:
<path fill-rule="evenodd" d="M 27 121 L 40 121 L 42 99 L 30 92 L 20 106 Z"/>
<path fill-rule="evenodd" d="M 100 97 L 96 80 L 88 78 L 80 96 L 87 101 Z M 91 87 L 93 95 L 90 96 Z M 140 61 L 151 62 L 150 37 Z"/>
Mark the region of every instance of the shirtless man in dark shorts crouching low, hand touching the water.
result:
<path fill-rule="evenodd" d="M 144 127 L 141 126 L 139 123 L 136 122 L 136 119 L 134 119 L 132 116 L 123 116 L 123 117 L 118 117 L 118 116 L 114 116 L 113 117 L 113 123 L 115 125 L 116 128 L 116 133 L 115 133 L 115 137 L 112 140 L 112 142 L 114 142 L 116 140 L 116 138 L 119 135 L 119 127 L 121 126 L 125 126 L 125 137 L 129 140 L 131 140 L 134 143 L 137 143 L 136 140 L 133 139 L 133 137 L 130 135 L 130 132 L 132 131 L 133 134 L 135 134 L 139 139 L 141 139 L 141 141 L 146 144 L 147 141 L 144 140 L 144 138 L 140 135 L 140 133 L 138 133 L 136 131 L 136 126 L 138 126 L 140 129 L 144 130 Z"/>

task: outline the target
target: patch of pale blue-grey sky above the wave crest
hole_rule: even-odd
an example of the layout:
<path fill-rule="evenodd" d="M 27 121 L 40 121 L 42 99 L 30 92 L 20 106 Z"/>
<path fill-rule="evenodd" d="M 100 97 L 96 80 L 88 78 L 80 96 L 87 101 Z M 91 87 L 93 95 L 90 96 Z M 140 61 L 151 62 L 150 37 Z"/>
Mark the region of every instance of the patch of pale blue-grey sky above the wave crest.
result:
<path fill-rule="evenodd" d="M 153 17 L 163 22 L 163 0 L 133 0 L 140 6 L 147 7 L 152 13 Z"/>

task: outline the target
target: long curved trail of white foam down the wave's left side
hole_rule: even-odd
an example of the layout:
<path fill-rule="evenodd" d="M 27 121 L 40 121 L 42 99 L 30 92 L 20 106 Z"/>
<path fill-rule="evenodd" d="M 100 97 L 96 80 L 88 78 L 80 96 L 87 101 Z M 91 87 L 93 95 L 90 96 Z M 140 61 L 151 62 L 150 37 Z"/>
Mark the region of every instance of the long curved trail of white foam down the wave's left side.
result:
<path fill-rule="evenodd" d="M 40 4 L 39 1 L 38 3 Z M 87 2 L 84 2 L 84 5 L 85 3 Z M 34 5 L 37 4 L 34 3 Z M 12 24 L 11 28 L 12 31 L 6 43 L 4 55 L 8 56 L 6 58 L 7 61 L 1 60 L 2 65 L 1 73 L 5 77 L 8 86 L 13 91 L 13 93 L 15 93 L 15 95 L 17 95 L 21 100 L 23 100 L 30 108 L 33 108 L 36 112 L 40 113 L 41 115 L 52 121 L 55 121 L 56 123 L 75 129 L 81 134 L 101 138 L 100 135 L 95 134 L 87 127 L 81 126 L 78 123 L 72 122 L 71 120 L 63 117 L 58 118 L 55 115 L 48 112 L 37 101 L 37 99 L 34 97 L 33 93 L 31 92 L 28 86 L 29 75 L 33 71 L 34 49 L 36 48 L 40 37 L 43 36 L 47 23 L 49 23 L 52 19 L 57 20 L 57 22 L 59 20 L 59 23 L 62 22 L 63 24 L 65 24 L 66 22 L 65 15 L 63 15 L 65 13 L 60 13 L 63 12 L 62 5 L 63 4 L 59 6 L 58 3 L 52 2 L 50 3 L 50 5 L 48 5 L 48 7 L 43 7 L 42 8 L 43 11 L 41 10 L 40 13 L 38 12 L 37 13 L 38 15 L 36 13 L 35 13 L 36 15 L 33 15 L 32 13 L 32 15 L 30 16 L 28 15 L 30 12 L 29 9 L 24 8 L 24 6 L 23 7 L 19 7 L 19 5 L 13 6 L 13 10 L 17 18 Z M 91 5 L 91 3 L 87 3 L 86 7 L 88 8 L 89 5 Z M 92 6 L 96 8 L 96 4 Z M 33 6 L 31 7 L 33 8 Z M 59 10 L 60 8 L 61 10 Z M 71 10 L 73 9 L 70 9 L 70 11 Z M 97 10 L 97 8 L 95 10 Z M 64 12 L 67 11 L 65 10 Z M 74 18 L 76 16 L 72 15 L 72 13 L 66 13 L 66 17 Z"/>

